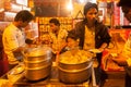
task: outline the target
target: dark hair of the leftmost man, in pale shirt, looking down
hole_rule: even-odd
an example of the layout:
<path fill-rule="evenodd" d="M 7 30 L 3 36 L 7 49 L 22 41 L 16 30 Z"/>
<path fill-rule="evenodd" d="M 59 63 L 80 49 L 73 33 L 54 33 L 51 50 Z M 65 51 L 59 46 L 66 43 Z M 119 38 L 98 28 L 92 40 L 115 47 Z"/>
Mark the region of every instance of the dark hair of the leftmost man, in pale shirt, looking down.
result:
<path fill-rule="evenodd" d="M 22 10 L 15 15 L 14 21 L 31 22 L 34 16 L 29 11 Z"/>

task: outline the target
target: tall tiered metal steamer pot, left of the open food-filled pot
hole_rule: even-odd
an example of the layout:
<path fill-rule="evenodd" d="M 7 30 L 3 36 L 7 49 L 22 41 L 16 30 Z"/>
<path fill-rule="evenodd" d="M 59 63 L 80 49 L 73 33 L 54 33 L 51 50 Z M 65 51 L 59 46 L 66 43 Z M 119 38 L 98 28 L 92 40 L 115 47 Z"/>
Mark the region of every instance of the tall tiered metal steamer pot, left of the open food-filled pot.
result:
<path fill-rule="evenodd" d="M 39 80 L 50 75 L 51 49 L 49 47 L 36 47 L 26 50 L 24 64 L 25 77 L 29 80 Z"/>

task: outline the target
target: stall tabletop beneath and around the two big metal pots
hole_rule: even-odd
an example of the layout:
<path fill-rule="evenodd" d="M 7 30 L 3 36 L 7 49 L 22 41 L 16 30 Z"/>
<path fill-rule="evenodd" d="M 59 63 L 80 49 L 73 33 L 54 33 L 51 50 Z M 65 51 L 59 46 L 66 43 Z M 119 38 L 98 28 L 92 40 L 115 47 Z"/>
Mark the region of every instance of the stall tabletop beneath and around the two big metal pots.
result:
<path fill-rule="evenodd" d="M 16 67 L 17 66 L 15 66 L 12 70 L 15 70 Z M 10 71 L 5 75 L 3 75 L 0 80 L 5 82 L 4 85 L 8 84 L 7 86 L 10 85 L 10 86 L 13 86 L 13 87 L 40 87 L 40 86 L 41 87 L 43 86 L 45 86 L 45 87 L 66 87 L 66 86 L 93 87 L 92 85 L 94 85 L 94 86 L 96 85 L 95 82 L 91 82 L 90 79 L 85 80 L 82 84 L 75 84 L 75 85 L 74 84 L 64 84 L 64 83 L 60 82 L 58 79 L 58 69 L 55 65 L 55 63 L 52 64 L 50 75 L 48 77 L 39 79 L 39 80 L 28 80 L 28 79 L 26 79 L 25 76 L 24 76 L 24 72 L 21 72 L 20 74 L 15 74 L 15 75 L 12 75 L 12 76 L 9 76 L 9 73 L 10 73 Z M 92 72 L 92 74 L 94 74 L 94 71 Z M 92 75 L 92 76 L 93 76 L 92 78 L 94 80 L 95 75 Z"/>

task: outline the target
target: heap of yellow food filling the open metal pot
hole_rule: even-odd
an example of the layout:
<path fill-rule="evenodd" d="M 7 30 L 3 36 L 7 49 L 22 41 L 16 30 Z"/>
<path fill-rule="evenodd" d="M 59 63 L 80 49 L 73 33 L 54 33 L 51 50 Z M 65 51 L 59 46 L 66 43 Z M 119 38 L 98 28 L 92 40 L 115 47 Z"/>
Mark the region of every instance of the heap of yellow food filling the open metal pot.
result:
<path fill-rule="evenodd" d="M 60 55 L 59 61 L 66 64 L 76 64 L 90 61 L 93 53 L 84 50 L 67 51 Z"/>

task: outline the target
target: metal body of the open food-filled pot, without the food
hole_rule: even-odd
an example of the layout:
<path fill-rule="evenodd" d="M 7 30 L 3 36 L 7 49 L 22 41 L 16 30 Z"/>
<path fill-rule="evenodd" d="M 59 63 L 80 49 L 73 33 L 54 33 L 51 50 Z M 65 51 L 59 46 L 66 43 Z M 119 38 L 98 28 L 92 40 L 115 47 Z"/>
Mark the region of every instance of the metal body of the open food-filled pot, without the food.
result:
<path fill-rule="evenodd" d="M 59 79 L 66 84 L 81 84 L 91 77 L 92 64 L 93 62 L 91 58 L 87 58 L 87 60 L 80 63 L 79 62 L 64 63 L 59 61 L 58 62 Z"/>

